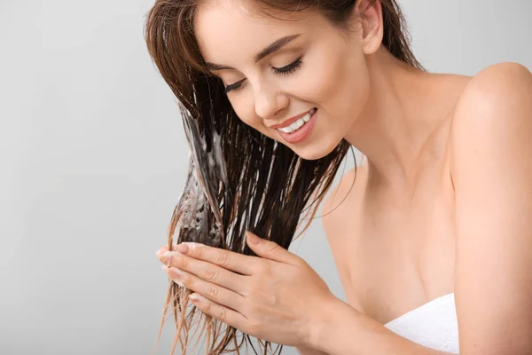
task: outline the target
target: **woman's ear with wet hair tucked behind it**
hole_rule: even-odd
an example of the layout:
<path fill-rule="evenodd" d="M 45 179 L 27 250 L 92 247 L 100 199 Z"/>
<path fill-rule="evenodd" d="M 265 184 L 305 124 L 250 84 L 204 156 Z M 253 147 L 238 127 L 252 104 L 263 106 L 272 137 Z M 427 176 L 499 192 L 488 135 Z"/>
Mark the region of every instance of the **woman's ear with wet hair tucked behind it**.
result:
<path fill-rule="evenodd" d="M 372 54 L 380 48 L 384 36 L 382 4 L 380 0 L 359 0 L 355 13 L 363 30 L 362 50 L 364 54 Z"/>

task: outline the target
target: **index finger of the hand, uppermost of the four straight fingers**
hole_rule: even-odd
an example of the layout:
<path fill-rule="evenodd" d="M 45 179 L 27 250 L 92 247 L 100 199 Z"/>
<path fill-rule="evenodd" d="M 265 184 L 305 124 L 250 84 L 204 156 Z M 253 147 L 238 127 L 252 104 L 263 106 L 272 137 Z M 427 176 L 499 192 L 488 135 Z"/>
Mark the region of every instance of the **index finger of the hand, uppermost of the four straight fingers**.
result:
<path fill-rule="evenodd" d="M 256 256 L 245 256 L 234 251 L 208 247 L 200 243 L 181 243 L 177 246 L 177 250 L 194 259 L 203 260 L 243 275 L 253 275 L 260 263 L 260 258 Z"/>

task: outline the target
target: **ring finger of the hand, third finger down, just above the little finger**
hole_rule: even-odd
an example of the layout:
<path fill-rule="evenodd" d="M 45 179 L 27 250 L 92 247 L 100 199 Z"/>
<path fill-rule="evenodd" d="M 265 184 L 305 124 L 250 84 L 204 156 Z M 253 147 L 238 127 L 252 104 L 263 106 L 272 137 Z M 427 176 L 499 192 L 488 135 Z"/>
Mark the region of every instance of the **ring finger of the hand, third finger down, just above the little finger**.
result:
<path fill-rule="evenodd" d="M 245 301 L 244 296 L 239 295 L 227 288 L 212 284 L 199 277 L 192 275 L 192 273 L 184 272 L 175 267 L 168 267 L 163 265 L 163 269 L 168 273 L 168 277 L 176 282 L 177 285 L 191 289 L 206 297 L 216 304 L 231 308 L 231 310 L 240 312 Z"/>

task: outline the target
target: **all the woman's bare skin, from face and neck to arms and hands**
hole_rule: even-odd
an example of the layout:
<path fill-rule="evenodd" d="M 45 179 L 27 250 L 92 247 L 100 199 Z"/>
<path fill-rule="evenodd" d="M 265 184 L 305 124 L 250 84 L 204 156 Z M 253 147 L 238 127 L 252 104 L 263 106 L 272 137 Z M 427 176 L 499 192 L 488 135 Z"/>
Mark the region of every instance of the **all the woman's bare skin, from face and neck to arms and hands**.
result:
<path fill-rule="evenodd" d="M 304 159 L 341 138 L 367 158 L 354 188 L 349 171 L 323 205 L 348 303 L 301 257 L 254 244 L 252 233 L 261 257 L 160 248 L 168 276 L 202 312 L 303 354 L 444 354 L 383 325 L 450 292 L 461 354 L 532 353 L 532 75 L 515 63 L 473 77 L 408 67 L 381 46 L 379 1 L 353 29 L 342 34 L 317 13 L 263 18 L 243 1 L 201 6 L 195 29 L 204 58 L 231 67 L 213 74 L 239 86 L 227 95 L 242 121 Z M 297 70 L 276 74 L 298 58 Z M 303 142 L 270 129 L 312 107 L 319 116 Z"/>

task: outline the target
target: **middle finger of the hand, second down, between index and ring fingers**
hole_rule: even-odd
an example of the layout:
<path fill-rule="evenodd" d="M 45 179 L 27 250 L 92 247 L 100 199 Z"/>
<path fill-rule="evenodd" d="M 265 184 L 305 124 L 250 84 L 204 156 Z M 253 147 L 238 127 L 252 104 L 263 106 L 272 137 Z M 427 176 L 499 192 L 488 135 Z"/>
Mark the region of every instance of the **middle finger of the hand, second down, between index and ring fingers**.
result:
<path fill-rule="evenodd" d="M 190 256 L 185 256 L 177 251 L 167 251 L 159 256 L 162 264 L 174 266 L 179 270 L 190 272 L 207 282 L 214 283 L 235 291 L 240 295 L 243 294 L 246 280 L 245 276 L 238 273 L 223 269 L 215 264 L 210 264 L 202 260 L 194 259 Z"/>

